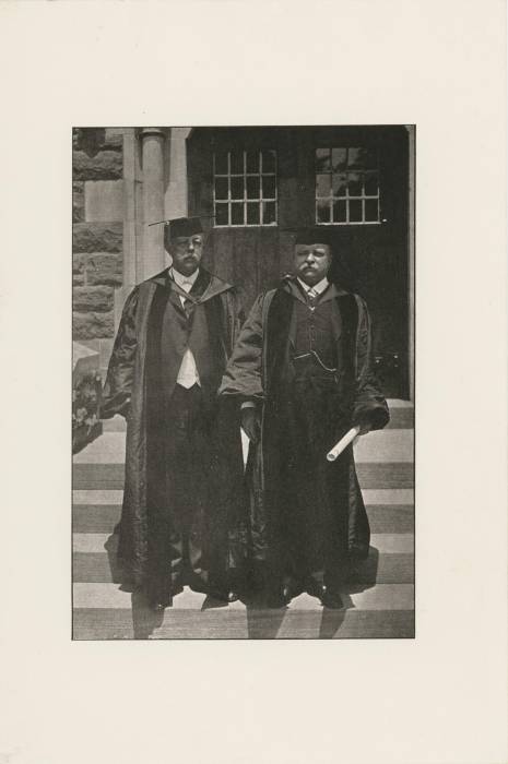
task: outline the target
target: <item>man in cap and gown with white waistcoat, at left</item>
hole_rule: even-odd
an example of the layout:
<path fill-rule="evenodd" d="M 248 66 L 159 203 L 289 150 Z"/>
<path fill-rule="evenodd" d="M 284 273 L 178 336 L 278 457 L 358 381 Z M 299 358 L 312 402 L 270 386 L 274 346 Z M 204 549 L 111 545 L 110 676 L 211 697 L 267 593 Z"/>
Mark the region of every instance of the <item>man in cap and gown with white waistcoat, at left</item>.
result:
<path fill-rule="evenodd" d="M 119 557 L 155 610 L 184 585 L 234 599 L 228 571 L 241 554 L 232 520 L 239 427 L 216 396 L 239 331 L 238 299 L 201 266 L 200 218 L 164 223 L 173 263 L 129 296 L 102 403 L 103 418 L 127 418 Z"/>

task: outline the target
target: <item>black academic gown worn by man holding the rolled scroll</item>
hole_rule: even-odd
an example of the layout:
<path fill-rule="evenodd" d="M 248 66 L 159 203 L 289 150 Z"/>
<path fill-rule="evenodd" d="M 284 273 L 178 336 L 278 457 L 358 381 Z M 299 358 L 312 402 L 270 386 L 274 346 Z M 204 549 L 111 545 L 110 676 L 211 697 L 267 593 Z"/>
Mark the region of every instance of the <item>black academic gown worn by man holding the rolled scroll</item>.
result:
<path fill-rule="evenodd" d="M 255 302 L 220 391 L 258 405 L 261 439 L 249 451 L 250 556 L 280 581 L 341 576 L 353 558 L 368 554 L 353 449 L 334 463 L 326 454 L 353 425 L 378 429 L 389 419 L 374 374 L 364 300 L 335 285 L 321 299 L 332 306 L 340 365 L 333 380 L 295 387 L 291 336 L 295 301 L 305 297 L 286 278 Z"/>

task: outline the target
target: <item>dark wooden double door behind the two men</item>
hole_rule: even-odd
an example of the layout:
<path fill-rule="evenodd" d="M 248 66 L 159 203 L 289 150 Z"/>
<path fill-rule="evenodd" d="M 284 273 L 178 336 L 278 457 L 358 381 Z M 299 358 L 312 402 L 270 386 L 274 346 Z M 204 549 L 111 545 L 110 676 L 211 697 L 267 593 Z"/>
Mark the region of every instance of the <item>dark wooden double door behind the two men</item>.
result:
<path fill-rule="evenodd" d="M 390 397 L 409 397 L 407 143 L 400 126 L 201 128 L 188 140 L 189 214 L 197 215 L 215 212 L 214 153 L 276 152 L 276 225 L 212 227 L 206 241 L 204 263 L 243 290 L 247 309 L 291 271 L 291 229 L 316 225 L 317 152 L 345 148 L 344 156 L 353 156 L 359 148 L 377 157 L 378 219 L 326 229 L 353 288 L 367 301 L 378 374 Z"/>

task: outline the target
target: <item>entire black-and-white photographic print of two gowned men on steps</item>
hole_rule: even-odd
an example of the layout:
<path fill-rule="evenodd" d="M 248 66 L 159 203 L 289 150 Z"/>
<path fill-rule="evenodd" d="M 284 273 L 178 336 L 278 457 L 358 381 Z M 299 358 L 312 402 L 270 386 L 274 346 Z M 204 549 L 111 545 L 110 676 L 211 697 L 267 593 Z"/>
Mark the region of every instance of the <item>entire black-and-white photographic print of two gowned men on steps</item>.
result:
<path fill-rule="evenodd" d="M 414 637 L 415 126 L 72 158 L 73 638 Z"/>

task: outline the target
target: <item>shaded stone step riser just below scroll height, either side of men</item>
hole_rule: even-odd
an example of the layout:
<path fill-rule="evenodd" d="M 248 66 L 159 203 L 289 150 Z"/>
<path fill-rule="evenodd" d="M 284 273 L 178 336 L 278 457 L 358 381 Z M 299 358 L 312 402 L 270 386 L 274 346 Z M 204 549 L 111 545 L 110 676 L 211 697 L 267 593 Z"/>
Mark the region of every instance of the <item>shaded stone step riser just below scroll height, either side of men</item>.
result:
<path fill-rule="evenodd" d="M 356 468 L 363 489 L 413 488 L 414 468 L 411 462 L 363 462 Z M 123 464 L 75 463 L 72 485 L 75 490 L 122 490 Z"/>

